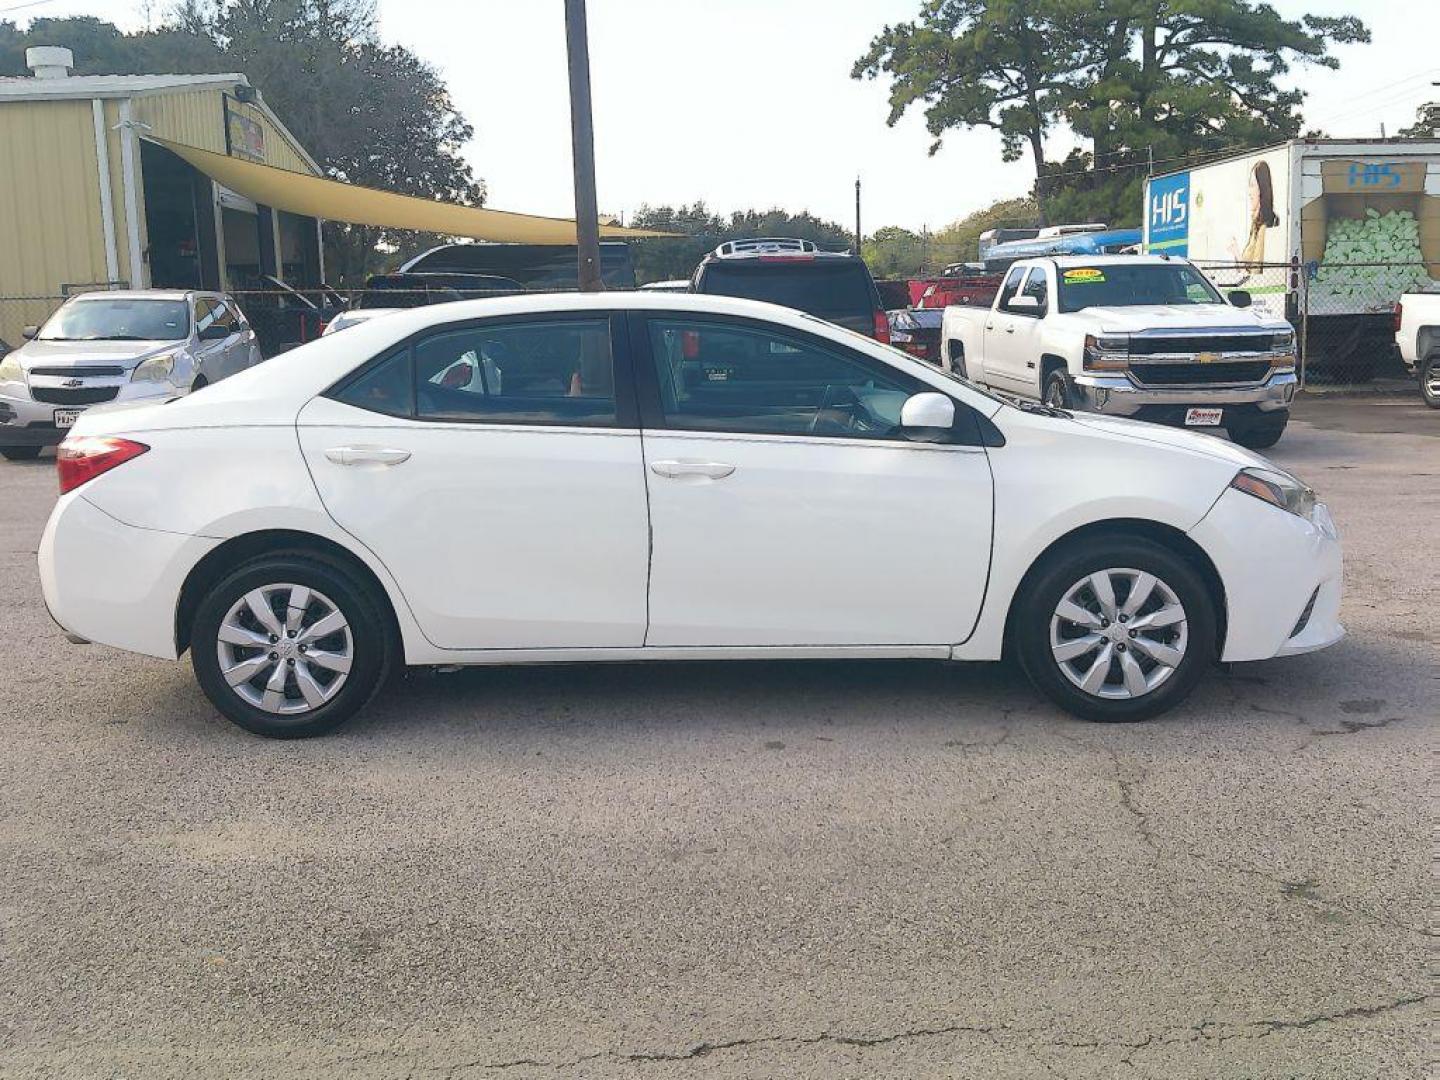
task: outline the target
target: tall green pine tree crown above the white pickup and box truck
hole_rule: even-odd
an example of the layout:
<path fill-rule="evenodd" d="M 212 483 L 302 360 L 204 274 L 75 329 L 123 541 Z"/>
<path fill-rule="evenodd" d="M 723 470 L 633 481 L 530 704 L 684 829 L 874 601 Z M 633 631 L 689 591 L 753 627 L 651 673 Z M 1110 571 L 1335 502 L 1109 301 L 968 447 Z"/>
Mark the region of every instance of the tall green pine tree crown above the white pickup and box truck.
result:
<path fill-rule="evenodd" d="M 891 76 L 891 124 L 924 102 L 937 138 L 994 128 L 1007 160 L 1028 143 L 1045 216 L 1083 204 L 1133 220 L 1151 160 L 1295 135 L 1305 92 L 1280 79 L 1295 63 L 1336 68 L 1332 45 L 1367 40 L 1354 16 L 1287 20 L 1257 0 L 926 0 L 852 75 Z M 1060 122 L 1090 147 L 1051 163 L 1044 137 Z"/>

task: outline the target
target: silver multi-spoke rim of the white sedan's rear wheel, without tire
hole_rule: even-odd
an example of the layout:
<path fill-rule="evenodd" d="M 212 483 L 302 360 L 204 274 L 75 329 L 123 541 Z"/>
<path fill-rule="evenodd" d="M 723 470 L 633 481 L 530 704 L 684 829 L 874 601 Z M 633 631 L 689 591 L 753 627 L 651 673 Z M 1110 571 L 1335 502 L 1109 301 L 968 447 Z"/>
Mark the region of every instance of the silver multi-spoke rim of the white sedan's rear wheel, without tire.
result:
<path fill-rule="evenodd" d="M 331 701 L 350 677 L 354 638 L 338 605 L 304 585 L 251 589 L 220 619 L 220 675 L 246 704 L 279 716 Z"/>

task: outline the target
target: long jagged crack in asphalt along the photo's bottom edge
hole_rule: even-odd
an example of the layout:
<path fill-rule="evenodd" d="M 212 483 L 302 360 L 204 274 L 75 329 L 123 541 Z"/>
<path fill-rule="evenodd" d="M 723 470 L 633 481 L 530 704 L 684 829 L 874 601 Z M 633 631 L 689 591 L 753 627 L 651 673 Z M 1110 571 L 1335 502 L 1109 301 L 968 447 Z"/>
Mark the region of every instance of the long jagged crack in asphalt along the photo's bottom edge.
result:
<path fill-rule="evenodd" d="M 507 1068 L 549 1068 L 549 1070 L 563 1070 L 575 1068 L 577 1066 L 588 1064 L 590 1061 L 598 1061 L 600 1058 L 609 1058 L 615 1063 L 622 1064 L 655 1064 L 665 1061 L 694 1061 L 697 1058 L 707 1057 L 710 1054 L 723 1053 L 727 1050 L 743 1050 L 752 1047 L 815 1047 L 821 1044 L 844 1045 L 844 1047 L 858 1047 L 868 1050 L 871 1047 L 883 1047 L 894 1043 L 904 1043 L 913 1038 L 942 1038 L 948 1035 L 976 1035 L 992 1043 L 998 1050 L 1017 1050 L 1024 1053 L 1032 1061 L 1045 1068 L 1047 1073 L 1054 1074 L 1054 1070 L 1040 1057 L 1032 1053 L 1035 1048 L 1054 1048 L 1054 1050 L 1123 1050 L 1125 1054 L 1119 1061 L 1125 1066 L 1133 1067 L 1133 1056 L 1149 1047 L 1158 1045 L 1181 1045 L 1187 1043 L 1230 1043 L 1234 1040 L 1259 1040 L 1269 1038 L 1270 1035 L 1280 1031 L 1308 1031 L 1310 1028 L 1319 1027 L 1322 1024 L 1336 1024 L 1349 1020 L 1372 1020 L 1375 1017 L 1385 1015 L 1387 1012 L 1395 1012 L 1398 1009 L 1410 1008 L 1411 1005 L 1420 1005 L 1430 1001 L 1430 994 L 1414 994 L 1403 998 L 1395 998 L 1392 1001 L 1384 1001 L 1377 1005 L 1352 1005 L 1351 1008 L 1339 1009 L 1338 1012 L 1319 1012 L 1310 1017 L 1300 1017 L 1296 1020 L 1276 1018 L 1276 1020 L 1251 1020 L 1251 1021 L 1205 1021 L 1202 1024 L 1192 1024 L 1187 1028 L 1171 1030 L 1159 1034 L 1149 1034 L 1145 1038 L 1133 1043 L 1125 1040 L 1079 1040 L 1079 1038 L 1048 1038 L 1040 1041 L 1024 1041 L 1020 1038 L 1002 1038 L 1002 1034 L 1009 1035 L 1011 1028 L 994 1027 L 994 1025 L 978 1025 L 978 1024 L 946 1024 L 942 1027 L 919 1027 L 906 1028 L 903 1031 L 896 1031 L 884 1035 L 844 1035 L 829 1031 L 821 1031 L 816 1035 L 759 1035 L 753 1038 L 733 1038 L 721 1043 L 701 1041 L 693 1043 L 685 1050 L 678 1051 L 618 1051 L 618 1050 L 602 1050 L 592 1054 L 583 1054 L 576 1058 L 567 1058 L 563 1061 L 546 1061 L 533 1057 L 517 1057 L 507 1061 L 467 1061 L 456 1066 L 451 1066 L 446 1070 L 446 1077 L 455 1077 L 461 1071 L 468 1070 L 485 1070 L 485 1071 L 503 1071 Z M 1241 1028 L 1238 1031 L 1220 1031 L 1217 1028 Z M 1253 1031 L 1246 1031 L 1243 1028 L 1259 1028 Z M 1021 1034 L 1021 1032 L 1015 1032 Z"/>

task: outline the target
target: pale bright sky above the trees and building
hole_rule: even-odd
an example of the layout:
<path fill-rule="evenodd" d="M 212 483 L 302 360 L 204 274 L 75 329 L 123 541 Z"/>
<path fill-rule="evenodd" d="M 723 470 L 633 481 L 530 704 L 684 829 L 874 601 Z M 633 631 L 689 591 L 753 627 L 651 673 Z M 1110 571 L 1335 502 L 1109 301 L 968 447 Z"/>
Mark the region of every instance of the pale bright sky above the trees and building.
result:
<path fill-rule="evenodd" d="M 1339 71 L 1296 68 L 1306 128 L 1374 137 L 1440 96 L 1440 3 L 1272 0 L 1282 14 L 1362 10 L 1374 40 Z M 164 0 L 0 0 L 0 17 L 94 14 L 144 26 Z M 380 36 L 439 69 L 475 127 L 467 156 L 488 206 L 570 216 L 570 118 L 562 0 L 379 0 Z M 711 209 L 809 210 L 847 226 L 863 181 L 864 230 L 939 229 L 1024 194 L 1028 160 L 1001 161 L 989 131 L 953 131 L 930 156 L 919 112 L 886 125 L 887 88 L 850 78 L 886 24 L 920 0 L 589 0 L 596 187 L 602 213 L 703 199 Z M 264 86 L 261 88 L 264 92 Z M 282 117 L 284 120 L 284 117 Z M 1060 132 L 1050 151 L 1063 157 Z"/>

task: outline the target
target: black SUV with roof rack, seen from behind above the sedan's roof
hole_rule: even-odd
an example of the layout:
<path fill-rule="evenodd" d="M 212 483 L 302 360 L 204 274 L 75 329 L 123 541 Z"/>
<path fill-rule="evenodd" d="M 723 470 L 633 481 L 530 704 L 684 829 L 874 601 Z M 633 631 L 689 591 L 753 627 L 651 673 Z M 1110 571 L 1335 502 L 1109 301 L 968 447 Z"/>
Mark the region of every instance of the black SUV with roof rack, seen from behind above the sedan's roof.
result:
<path fill-rule="evenodd" d="M 765 300 L 890 341 L 890 323 L 864 259 L 821 251 L 811 240 L 727 240 L 696 266 L 691 291 Z"/>

